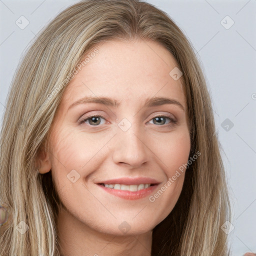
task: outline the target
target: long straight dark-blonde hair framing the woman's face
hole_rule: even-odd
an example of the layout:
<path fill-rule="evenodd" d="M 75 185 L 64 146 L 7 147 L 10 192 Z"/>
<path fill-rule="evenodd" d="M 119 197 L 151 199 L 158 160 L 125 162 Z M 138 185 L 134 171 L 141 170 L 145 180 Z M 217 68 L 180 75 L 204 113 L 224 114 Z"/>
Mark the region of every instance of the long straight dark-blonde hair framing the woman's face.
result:
<path fill-rule="evenodd" d="M 49 146 L 54 114 L 77 64 L 106 40 L 135 38 L 160 43 L 176 59 L 187 98 L 190 156 L 201 153 L 187 167 L 175 207 L 153 229 L 151 255 L 229 255 L 220 228 L 230 221 L 224 168 L 210 96 L 189 41 L 165 12 L 149 3 L 85 0 L 40 32 L 11 84 L 0 137 L 0 203 L 9 213 L 0 256 L 59 256 L 60 202 L 51 172 L 38 172 L 38 152 Z M 29 228 L 23 234 L 16 230 L 20 221 Z"/>

